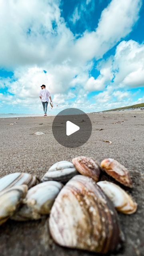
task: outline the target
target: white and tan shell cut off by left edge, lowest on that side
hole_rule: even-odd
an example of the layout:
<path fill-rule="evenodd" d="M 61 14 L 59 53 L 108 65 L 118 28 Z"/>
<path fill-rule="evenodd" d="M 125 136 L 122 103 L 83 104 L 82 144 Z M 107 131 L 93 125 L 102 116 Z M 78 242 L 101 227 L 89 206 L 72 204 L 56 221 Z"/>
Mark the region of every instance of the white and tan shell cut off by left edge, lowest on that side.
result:
<path fill-rule="evenodd" d="M 28 186 L 21 185 L 0 192 L 0 225 L 14 214 L 27 191 Z"/>

